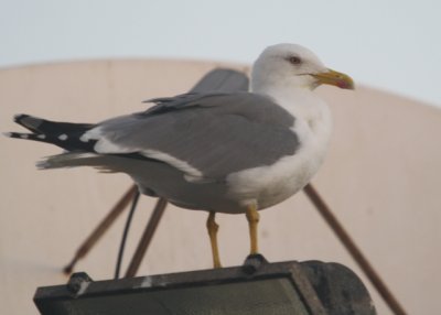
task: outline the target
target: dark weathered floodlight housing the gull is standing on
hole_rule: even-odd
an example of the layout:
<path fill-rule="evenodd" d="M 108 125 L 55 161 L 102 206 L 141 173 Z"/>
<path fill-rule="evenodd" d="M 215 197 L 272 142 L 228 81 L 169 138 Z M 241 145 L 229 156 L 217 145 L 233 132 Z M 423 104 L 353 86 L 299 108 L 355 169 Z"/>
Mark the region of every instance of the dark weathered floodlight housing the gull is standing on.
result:
<path fill-rule="evenodd" d="M 366 287 L 347 268 L 319 261 L 244 267 L 39 287 L 41 314 L 375 315 Z M 245 264 L 254 264 L 249 261 Z M 78 280 L 75 279 L 75 283 Z M 77 285 L 78 286 L 78 285 Z"/>

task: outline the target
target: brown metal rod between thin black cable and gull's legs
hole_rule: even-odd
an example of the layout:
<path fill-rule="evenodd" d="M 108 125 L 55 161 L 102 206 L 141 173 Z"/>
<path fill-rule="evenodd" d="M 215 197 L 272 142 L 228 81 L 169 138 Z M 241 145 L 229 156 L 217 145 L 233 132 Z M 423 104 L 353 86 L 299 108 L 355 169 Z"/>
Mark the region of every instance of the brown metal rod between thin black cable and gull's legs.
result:
<path fill-rule="evenodd" d="M 166 199 L 164 198 L 158 199 L 153 213 L 151 214 L 150 219 L 146 226 L 144 232 L 138 243 L 137 250 L 127 269 L 125 278 L 132 278 L 137 274 L 139 265 L 141 264 L 142 259 L 144 258 L 150 241 L 152 240 L 154 231 L 157 230 L 159 221 L 161 220 L 161 217 L 165 210 L 166 204 L 168 204 Z"/>

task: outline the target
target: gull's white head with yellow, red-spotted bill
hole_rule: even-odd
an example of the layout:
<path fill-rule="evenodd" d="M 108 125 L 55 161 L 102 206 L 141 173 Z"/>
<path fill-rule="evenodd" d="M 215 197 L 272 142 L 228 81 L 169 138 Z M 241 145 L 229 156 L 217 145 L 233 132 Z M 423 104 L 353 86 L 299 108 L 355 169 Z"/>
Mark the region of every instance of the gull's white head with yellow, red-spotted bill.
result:
<path fill-rule="evenodd" d="M 265 93 L 271 88 L 312 90 L 322 84 L 354 88 L 349 76 L 326 68 L 314 53 L 297 44 L 269 46 L 252 66 L 252 91 Z"/>

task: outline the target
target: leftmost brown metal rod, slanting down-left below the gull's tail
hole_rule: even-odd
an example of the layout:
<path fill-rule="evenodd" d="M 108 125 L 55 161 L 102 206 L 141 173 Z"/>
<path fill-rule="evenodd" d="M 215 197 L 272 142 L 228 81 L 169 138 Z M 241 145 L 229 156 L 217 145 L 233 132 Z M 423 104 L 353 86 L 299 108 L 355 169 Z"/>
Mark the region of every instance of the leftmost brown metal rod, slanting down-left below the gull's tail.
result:
<path fill-rule="evenodd" d="M 75 264 L 79 259 L 84 258 L 88 251 L 95 246 L 95 243 L 101 238 L 101 236 L 108 230 L 108 228 L 114 224 L 118 216 L 123 211 L 123 209 L 133 199 L 135 194 L 138 188 L 132 185 L 126 194 L 117 202 L 117 204 L 111 208 L 110 213 L 101 220 L 101 222 L 95 228 L 95 230 L 89 235 L 89 237 L 82 243 L 82 246 L 75 252 L 72 261 L 63 269 L 65 274 L 71 274 L 75 268 Z"/>

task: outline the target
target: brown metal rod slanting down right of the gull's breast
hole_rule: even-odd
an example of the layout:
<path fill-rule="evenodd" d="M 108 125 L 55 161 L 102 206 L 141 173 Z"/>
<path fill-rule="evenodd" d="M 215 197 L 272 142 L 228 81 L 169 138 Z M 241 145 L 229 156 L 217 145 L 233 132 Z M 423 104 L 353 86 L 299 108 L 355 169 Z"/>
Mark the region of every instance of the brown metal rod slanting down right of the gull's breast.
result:
<path fill-rule="evenodd" d="M 363 270 L 363 272 L 369 279 L 370 283 L 378 291 L 379 295 L 383 297 L 383 300 L 386 302 L 386 304 L 389 306 L 389 308 L 392 311 L 392 313 L 396 315 L 406 315 L 407 313 L 402 308 L 402 306 L 400 305 L 398 300 L 394 296 L 394 294 L 387 287 L 385 282 L 381 280 L 381 278 L 370 265 L 368 260 L 365 258 L 365 256 L 362 253 L 362 251 L 358 249 L 358 247 L 352 240 L 352 238 L 346 232 L 346 230 L 343 228 L 343 226 L 340 224 L 337 218 L 333 215 L 330 207 L 325 204 L 325 202 L 322 199 L 322 197 L 319 195 L 319 193 L 315 191 L 315 188 L 311 184 L 308 184 L 303 188 L 303 191 L 305 192 L 308 197 L 311 199 L 311 202 L 314 204 L 315 208 L 320 211 L 320 214 L 322 215 L 324 220 L 330 225 L 330 227 L 332 228 L 334 233 L 337 236 L 337 238 L 342 241 L 342 243 L 344 245 L 346 250 L 349 252 L 352 258 L 356 261 L 358 267 Z"/>

